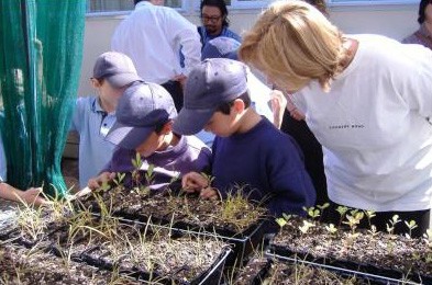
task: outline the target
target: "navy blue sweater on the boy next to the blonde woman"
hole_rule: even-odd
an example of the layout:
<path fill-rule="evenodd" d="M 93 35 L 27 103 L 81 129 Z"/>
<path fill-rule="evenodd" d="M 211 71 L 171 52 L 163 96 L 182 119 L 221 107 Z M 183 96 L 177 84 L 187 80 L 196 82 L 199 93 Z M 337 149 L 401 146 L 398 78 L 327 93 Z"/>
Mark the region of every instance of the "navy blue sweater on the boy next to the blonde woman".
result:
<path fill-rule="evenodd" d="M 267 200 L 270 214 L 303 215 L 303 206 L 315 202 L 315 191 L 304 169 L 296 141 L 264 118 L 250 132 L 217 137 L 213 142 L 212 175 L 225 196 L 244 186 L 252 201 Z"/>

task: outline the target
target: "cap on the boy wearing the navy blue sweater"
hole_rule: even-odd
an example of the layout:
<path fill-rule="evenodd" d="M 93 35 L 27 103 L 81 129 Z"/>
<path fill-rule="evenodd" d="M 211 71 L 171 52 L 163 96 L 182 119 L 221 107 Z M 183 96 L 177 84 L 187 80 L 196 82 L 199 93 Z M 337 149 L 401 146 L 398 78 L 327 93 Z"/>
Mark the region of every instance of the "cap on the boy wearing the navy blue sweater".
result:
<path fill-rule="evenodd" d="M 209 122 L 218 107 L 247 91 L 246 66 L 225 58 L 206 59 L 186 80 L 184 107 L 174 121 L 177 134 L 193 135 Z"/>

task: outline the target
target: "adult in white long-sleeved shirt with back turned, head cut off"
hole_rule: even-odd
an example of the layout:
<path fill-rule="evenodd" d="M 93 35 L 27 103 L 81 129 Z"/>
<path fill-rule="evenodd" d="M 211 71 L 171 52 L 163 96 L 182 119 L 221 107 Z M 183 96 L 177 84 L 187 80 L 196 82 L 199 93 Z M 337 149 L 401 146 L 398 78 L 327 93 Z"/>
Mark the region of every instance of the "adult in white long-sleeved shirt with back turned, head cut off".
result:
<path fill-rule="evenodd" d="M 111 48 L 131 57 L 145 81 L 163 86 L 179 110 L 182 83 L 190 68 L 200 62 L 201 43 L 197 26 L 164 2 L 134 0 L 135 10 L 117 27 Z"/>

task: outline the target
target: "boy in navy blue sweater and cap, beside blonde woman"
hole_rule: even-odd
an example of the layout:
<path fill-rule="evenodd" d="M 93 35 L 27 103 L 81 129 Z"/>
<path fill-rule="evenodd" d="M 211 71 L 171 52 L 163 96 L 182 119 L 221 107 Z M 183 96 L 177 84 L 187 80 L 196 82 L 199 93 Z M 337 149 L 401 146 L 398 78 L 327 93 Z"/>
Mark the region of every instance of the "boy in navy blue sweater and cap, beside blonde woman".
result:
<path fill-rule="evenodd" d="M 296 141 L 251 107 L 246 66 L 212 58 L 193 68 L 186 81 L 185 105 L 174 123 L 184 135 L 201 129 L 215 136 L 212 147 L 212 184 L 202 174 L 184 176 L 186 191 L 203 198 L 242 191 L 248 200 L 265 203 L 269 213 L 303 214 L 315 192 Z"/>

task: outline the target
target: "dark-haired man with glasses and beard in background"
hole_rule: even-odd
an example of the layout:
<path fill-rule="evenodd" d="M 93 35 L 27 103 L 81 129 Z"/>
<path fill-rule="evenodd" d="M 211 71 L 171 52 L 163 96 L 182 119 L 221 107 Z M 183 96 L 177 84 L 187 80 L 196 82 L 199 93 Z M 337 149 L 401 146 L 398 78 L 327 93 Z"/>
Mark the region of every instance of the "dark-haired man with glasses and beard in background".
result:
<path fill-rule="evenodd" d="M 230 21 L 224 0 L 202 0 L 200 10 L 202 26 L 198 27 L 198 33 L 201 36 L 202 46 L 218 36 L 232 37 L 242 42 L 242 38 L 236 33 L 228 29 Z"/>

